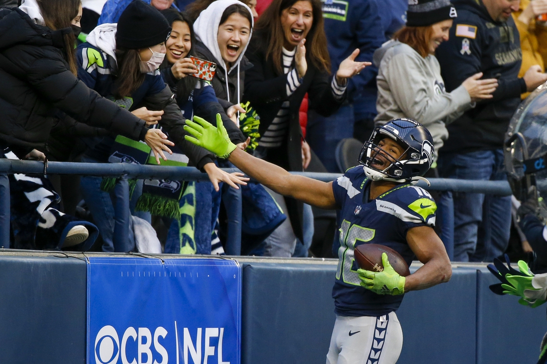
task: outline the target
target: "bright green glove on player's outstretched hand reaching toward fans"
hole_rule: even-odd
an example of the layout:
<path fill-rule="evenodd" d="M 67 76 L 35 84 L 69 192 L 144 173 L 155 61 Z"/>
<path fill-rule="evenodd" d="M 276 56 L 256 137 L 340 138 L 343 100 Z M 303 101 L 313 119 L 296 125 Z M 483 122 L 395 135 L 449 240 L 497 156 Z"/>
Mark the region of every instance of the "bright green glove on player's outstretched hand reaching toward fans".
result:
<path fill-rule="evenodd" d="M 184 136 L 184 139 L 188 142 L 201 146 L 224 159 L 228 158 L 230 153 L 236 149 L 236 145 L 230 141 L 228 132 L 222 124 L 220 114 L 217 114 L 217 127 L 199 116 L 194 116 L 194 121 L 187 120 L 186 125 L 184 125 L 184 130 L 195 137 Z"/>

